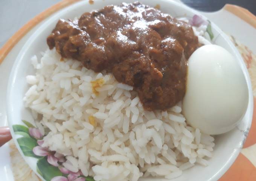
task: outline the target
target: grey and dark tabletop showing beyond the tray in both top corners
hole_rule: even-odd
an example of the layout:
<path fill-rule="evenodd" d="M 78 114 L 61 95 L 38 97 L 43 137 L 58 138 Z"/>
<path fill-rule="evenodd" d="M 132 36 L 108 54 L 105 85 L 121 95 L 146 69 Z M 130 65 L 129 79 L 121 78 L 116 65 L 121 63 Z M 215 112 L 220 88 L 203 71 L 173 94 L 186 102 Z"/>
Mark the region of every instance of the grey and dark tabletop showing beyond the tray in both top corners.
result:
<path fill-rule="evenodd" d="M 27 21 L 61 0 L 1 0 L 0 47 Z M 200 11 L 217 11 L 226 3 L 247 8 L 256 14 L 256 0 L 181 0 Z"/>

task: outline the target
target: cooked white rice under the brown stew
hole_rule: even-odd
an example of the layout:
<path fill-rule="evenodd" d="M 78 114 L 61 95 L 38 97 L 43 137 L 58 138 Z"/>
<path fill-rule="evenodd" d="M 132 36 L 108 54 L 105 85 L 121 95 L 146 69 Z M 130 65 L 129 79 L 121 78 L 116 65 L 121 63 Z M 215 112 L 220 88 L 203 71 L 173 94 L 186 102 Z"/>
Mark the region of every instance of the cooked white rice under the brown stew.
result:
<path fill-rule="evenodd" d="M 205 29 L 194 31 L 207 44 Z M 207 166 L 214 138 L 186 124 L 181 103 L 145 111 L 133 87 L 60 59 L 55 49 L 46 50 L 40 62 L 32 57 L 36 74 L 26 77 L 24 101 L 40 132 L 50 130 L 43 146 L 65 155 L 66 169 L 96 181 L 137 181 L 150 175 L 172 179 L 195 164 Z M 95 95 L 91 81 L 99 78 L 103 83 Z"/>

